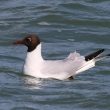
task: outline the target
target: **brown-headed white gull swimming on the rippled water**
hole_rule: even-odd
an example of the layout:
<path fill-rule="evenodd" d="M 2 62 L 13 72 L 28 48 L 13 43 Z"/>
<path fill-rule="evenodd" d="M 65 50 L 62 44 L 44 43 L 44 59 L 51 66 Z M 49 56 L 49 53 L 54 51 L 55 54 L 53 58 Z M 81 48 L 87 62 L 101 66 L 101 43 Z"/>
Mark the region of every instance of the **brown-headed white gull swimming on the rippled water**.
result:
<path fill-rule="evenodd" d="M 37 78 L 73 79 L 77 74 L 94 67 L 95 63 L 100 59 L 110 56 L 110 54 L 101 56 L 104 49 L 100 49 L 87 56 L 73 52 L 63 60 L 45 60 L 41 54 L 42 43 L 35 34 L 30 34 L 22 40 L 17 40 L 14 44 L 27 46 L 23 72 L 26 75 Z"/>

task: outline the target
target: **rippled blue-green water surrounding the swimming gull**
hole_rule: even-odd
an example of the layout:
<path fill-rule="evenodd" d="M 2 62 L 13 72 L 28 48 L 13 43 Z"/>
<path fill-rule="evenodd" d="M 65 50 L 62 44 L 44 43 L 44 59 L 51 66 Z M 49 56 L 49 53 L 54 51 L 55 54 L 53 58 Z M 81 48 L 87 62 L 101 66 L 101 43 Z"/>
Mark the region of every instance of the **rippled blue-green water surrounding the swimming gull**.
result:
<path fill-rule="evenodd" d="M 28 77 L 26 47 L 12 42 L 29 33 L 40 36 L 46 59 L 110 52 L 109 0 L 0 1 L 0 110 L 110 110 L 110 59 L 71 81 Z"/>

